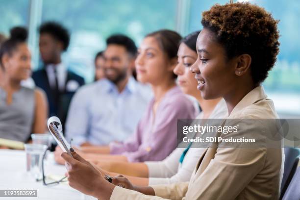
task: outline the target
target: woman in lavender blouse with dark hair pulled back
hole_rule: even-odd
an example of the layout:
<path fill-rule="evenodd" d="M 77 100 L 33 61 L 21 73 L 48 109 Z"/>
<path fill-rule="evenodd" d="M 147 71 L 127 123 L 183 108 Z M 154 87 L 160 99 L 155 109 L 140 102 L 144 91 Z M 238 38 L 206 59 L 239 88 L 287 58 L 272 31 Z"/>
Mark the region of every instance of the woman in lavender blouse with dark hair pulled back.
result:
<path fill-rule="evenodd" d="M 159 161 L 176 148 L 177 119 L 196 116 L 193 102 L 175 83 L 173 70 L 180 39 L 171 30 L 159 30 L 144 38 L 135 66 L 138 80 L 150 83 L 154 98 L 131 137 L 105 147 L 81 148 L 83 157 L 91 161 Z M 60 154 L 57 150 L 55 158 L 63 163 Z"/>

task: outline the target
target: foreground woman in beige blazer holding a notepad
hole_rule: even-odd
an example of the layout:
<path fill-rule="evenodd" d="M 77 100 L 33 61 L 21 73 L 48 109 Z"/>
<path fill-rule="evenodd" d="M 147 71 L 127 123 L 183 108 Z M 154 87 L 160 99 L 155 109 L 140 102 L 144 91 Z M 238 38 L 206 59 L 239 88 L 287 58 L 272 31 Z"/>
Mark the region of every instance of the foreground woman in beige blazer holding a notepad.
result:
<path fill-rule="evenodd" d="M 190 181 L 171 185 L 138 187 L 119 176 L 112 179 L 118 187 L 102 178 L 75 151 L 73 158 L 63 153 L 72 166 L 71 187 L 103 200 L 279 199 L 282 150 L 280 140 L 268 137 L 275 134 L 273 124 L 264 121 L 278 116 L 273 101 L 260 86 L 279 51 L 278 21 L 250 3 L 216 4 L 202 16 L 198 58 L 192 71 L 203 99 L 222 97 L 226 101 L 229 115 L 221 126 L 238 126 L 238 131 L 217 132 L 218 142 L 200 155 Z M 241 138 L 257 143 L 223 142 Z"/>

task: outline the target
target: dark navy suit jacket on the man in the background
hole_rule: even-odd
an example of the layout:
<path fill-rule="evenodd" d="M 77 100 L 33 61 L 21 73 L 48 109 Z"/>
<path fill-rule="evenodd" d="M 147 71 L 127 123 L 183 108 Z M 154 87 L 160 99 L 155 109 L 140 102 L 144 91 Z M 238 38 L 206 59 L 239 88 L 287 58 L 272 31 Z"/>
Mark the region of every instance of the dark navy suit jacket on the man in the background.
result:
<path fill-rule="evenodd" d="M 42 88 L 47 94 L 47 99 L 49 103 L 49 117 L 57 116 L 61 120 L 61 123 L 64 127 L 71 99 L 75 94 L 76 90 L 80 86 L 84 85 L 84 79 L 81 76 L 76 75 L 75 73 L 68 70 L 65 87 L 64 87 L 65 89 L 64 91 L 60 91 L 58 93 L 59 94 L 58 100 L 56 101 L 54 98 L 54 92 L 50 88 L 48 75 L 45 69 L 41 69 L 34 72 L 32 74 L 32 78 L 35 82 L 35 85 L 37 87 Z M 71 88 L 70 90 L 70 87 L 68 87 L 68 84 L 70 85 L 70 83 L 73 86 L 76 85 L 77 83 L 78 87 L 77 88 L 73 87 L 73 89 Z"/>

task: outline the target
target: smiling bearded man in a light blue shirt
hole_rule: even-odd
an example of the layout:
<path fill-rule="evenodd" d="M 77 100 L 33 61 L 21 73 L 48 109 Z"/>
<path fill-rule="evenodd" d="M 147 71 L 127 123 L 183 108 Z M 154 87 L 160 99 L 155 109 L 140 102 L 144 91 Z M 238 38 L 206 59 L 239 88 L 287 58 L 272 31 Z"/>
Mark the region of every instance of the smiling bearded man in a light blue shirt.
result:
<path fill-rule="evenodd" d="M 149 88 L 132 77 L 137 48 L 125 35 L 106 40 L 106 78 L 81 87 L 73 97 L 66 123 L 74 145 L 107 145 L 130 136 L 151 99 Z"/>

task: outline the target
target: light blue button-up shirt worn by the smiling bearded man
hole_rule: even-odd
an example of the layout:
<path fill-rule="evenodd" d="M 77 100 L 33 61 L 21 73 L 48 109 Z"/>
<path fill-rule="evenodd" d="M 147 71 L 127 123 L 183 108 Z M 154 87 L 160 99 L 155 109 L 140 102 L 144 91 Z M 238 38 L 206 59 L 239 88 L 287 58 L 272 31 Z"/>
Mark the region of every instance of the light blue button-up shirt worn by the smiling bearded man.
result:
<path fill-rule="evenodd" d="M 115 84 L 101 79 L 74 95 L 66 122 L 67 140 L 80 145 L 107 145 L 131 135 L 145 112 L 152 93 L 133 77 L 119 93 Z"/>

